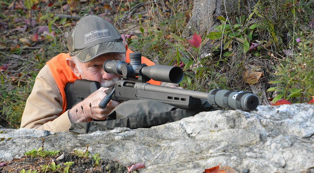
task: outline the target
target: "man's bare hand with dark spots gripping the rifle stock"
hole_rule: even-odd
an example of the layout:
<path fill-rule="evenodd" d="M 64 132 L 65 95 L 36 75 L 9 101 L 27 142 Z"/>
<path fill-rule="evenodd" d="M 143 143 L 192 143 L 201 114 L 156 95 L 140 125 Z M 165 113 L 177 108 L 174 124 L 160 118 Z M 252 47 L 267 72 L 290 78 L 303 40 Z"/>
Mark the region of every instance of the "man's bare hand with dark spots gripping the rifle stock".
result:
<path fill-rule="evenodd" d="M 87 122 L 91 119 L 105 120 L 112 109 L 120 104 L 120 102 L 111 100 L 104 109 L 98 106 L 100 101 L 107 95 L 107 89 L 100 87 L 83 101 L 73 106 L 68 113 L 71 123 Z"/>

